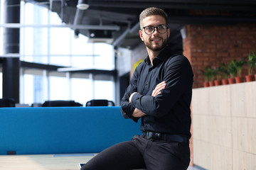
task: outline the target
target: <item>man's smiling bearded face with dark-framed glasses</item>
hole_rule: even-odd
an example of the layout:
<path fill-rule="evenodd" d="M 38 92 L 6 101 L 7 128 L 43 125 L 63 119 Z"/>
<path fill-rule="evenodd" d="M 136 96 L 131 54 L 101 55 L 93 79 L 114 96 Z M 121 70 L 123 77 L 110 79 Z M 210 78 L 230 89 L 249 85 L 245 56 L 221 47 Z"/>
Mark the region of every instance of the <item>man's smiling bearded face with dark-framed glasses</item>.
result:
<path fill-rule="evenodd" d="M 162 16 L 148 16 L 143 19 L 142 26 L 166 26 L 166 21 Z M 167 45 L 167 40 L 170 35 L 170 30 L 166 33 L 159 33 L 156 28 L 154 28 L 154 33 L 147 35 L 144 29 L 139 30 L 139 35 L 146 47 L 152 51 L 160 51 Z"/>

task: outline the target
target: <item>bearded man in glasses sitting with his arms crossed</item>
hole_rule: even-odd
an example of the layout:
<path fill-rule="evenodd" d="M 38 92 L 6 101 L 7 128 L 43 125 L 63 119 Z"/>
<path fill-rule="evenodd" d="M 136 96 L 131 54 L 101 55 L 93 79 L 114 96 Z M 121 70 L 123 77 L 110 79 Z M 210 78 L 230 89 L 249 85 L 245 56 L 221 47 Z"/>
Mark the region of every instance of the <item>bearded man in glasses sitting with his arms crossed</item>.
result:
<path fill-rule="evenodd" d="M 124 118 L 135 122 L 142 119 L 142 135 L 105 149 L 82 166 L 82 170 L 188 168 L 191 64 L 168 47 L 170 30 L 163 10 L 146 8 L 139 21 L 139 35 L 149 56 L 135 69 L 121 107 Z"/>

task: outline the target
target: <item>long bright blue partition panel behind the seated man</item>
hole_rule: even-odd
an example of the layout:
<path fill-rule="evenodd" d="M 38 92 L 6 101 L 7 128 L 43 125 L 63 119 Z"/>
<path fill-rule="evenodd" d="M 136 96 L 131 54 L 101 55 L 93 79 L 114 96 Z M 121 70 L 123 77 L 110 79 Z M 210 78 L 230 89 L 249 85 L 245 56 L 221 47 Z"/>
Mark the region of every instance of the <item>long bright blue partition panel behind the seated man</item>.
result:
<path fill-rule="evenodd" d="M 97 153 L 140 134 L 120 107 L 0 108 L 0 154 Z"/>

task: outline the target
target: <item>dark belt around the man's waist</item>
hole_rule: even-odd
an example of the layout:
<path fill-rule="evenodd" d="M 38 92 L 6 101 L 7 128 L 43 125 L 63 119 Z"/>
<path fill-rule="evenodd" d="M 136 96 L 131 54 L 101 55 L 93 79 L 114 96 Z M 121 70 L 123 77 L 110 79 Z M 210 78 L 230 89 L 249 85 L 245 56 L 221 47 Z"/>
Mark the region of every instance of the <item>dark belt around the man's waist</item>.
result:
<path fill-rule="evenodd" d="M 143 137 L 148 137 L 156 140 L 165 140 L 169 142 L 188 142 L 188 137 L 183 135 L 171 135 L 166 133 L 158 133 L 158 132 L 142 132 Z"/>

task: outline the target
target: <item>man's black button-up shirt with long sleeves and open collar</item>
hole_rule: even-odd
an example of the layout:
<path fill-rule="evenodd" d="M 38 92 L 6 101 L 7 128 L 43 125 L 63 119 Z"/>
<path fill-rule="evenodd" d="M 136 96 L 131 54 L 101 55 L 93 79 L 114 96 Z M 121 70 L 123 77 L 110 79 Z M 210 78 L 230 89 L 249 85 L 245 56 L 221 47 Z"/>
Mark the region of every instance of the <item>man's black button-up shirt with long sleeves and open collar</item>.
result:
<path fill-rule="evenodd" d="M 166 81 L 161 94 L 151 96 L 156 85 Z M 122 115 L 133 118 L 135 108 L 146 113 L 142 117 L 141 130 L 191 137 L 191 96 L 193 72 L 186 57 L 172 52 L 167 46 L 153 60 L 146 57 L 135 69 L 132 80 L 121 100 Z M 132 97 L 129 103 L 129 96 Z"/>

